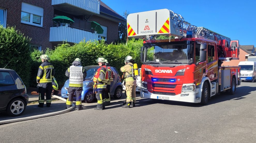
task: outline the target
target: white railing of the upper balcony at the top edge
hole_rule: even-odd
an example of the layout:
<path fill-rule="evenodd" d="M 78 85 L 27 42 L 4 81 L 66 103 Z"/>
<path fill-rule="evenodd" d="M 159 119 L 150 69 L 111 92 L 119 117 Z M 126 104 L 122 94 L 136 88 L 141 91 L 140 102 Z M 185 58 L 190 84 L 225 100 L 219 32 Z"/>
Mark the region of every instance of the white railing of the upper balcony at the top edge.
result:
<path fill-rule="evenodd" d="M 69 5 L 73 5 L 75 7 L 82 8 L 86 11 L 92 12 L 94 14 L 100 14 L 100 1 L 97 0 L 52 0 L 51 5 L 56 5 L 57 9 L 62 10 L 63 8 L 69 10 Z M 74 8 L 75 8 L 74 7 Z"/>

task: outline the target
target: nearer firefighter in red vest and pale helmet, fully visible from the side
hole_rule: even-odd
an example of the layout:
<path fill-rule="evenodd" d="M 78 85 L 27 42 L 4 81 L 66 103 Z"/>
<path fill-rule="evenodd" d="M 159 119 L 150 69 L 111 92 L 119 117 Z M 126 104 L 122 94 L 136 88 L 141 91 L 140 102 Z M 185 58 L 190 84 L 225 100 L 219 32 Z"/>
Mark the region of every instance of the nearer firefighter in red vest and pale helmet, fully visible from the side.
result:
<path fill-rule="evenodd" d="M 96 94 L 98 100 L 96 108 L 94 110 L 105 109 L 105 92 L 108 84 L 108 70 L 106 67 L 106 61 L 104 58 L 98 58 L 99 69 L 97 69 L 93 77 L 93 93 Z"/>

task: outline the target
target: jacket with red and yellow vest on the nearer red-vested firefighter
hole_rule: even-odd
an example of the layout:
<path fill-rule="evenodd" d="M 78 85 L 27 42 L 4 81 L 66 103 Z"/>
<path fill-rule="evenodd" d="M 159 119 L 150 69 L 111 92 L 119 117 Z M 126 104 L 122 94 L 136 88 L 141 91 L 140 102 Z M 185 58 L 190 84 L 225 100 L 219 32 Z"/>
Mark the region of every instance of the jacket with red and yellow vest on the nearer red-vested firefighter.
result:
<path fill-rule="evenodd" d="M 94 88 L 95 88 L 95 85 L 97 85 L 97 89 L 107 88 L 108 70 L 106 70 L 106 68 L 107 67 L 105 65 L 103 65 L 97 69 L 97 71 L 93 77 Z"/>

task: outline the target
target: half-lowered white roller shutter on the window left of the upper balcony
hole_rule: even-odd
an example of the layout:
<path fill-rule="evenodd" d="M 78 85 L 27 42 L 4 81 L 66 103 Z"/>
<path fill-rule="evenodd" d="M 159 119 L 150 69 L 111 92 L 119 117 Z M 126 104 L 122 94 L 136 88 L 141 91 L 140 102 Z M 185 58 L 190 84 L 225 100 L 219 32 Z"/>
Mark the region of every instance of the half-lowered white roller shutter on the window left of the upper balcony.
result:
<path fill-rule="evenodd" d="M 38 16 L 43 16 L 43 8 L 42 7 L 34 6 L 31 4 L 27 4 L 27 3 L 22 3 L 21 11 L 35 14 Z"/>

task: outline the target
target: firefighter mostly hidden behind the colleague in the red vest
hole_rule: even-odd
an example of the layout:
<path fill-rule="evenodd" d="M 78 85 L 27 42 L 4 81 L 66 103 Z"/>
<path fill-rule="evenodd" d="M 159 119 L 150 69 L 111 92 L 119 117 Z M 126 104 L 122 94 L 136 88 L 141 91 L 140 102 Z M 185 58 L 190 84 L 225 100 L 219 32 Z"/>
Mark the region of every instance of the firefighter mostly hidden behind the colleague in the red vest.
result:
<path fill-rule="evenodd" d="M 105 94 L 105 106 L 109 106 L 110 105 L 110 85 L 111 82 L 113 82 L 113 71 L 111 70 L 111 66 L 108 62 L 108 60 L 105 59 L 106 62 L 106 67 L 108 70 L 108 84 L 107 84 L 107 90 L 106 90 L 106 94 Z"/>

